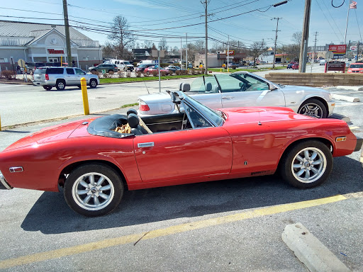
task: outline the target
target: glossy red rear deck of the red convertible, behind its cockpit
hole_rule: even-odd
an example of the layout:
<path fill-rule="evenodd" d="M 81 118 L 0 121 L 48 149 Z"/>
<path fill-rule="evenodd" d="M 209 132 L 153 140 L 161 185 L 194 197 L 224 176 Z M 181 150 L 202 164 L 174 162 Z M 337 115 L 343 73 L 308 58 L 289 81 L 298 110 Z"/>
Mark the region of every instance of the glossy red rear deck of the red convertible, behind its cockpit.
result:
<path fill-rule="evenodd" d="M 91 122 L 92 119 L 86 119 L 86 120 L 78 120 L 70 123 L 65 123 L 62 125 L 55 125 L 49 128 L 43 128 L 39 132 L 35 132 L 27 137 L 23 137 L 21 140 L 18 140 L 13 143 L 13 145 L 10 145 L 7 147 L 4 151 L 26 147 L 28 145 L 34 145 L 37 144 L 44 144 L 45 142 L 54 142 L 59 140 L 67 139 L 74 130 L 79 128 L 81 126 L 82 128 L 86 128 L 86 125 L 82 125 L 84 122 Z M 81 136 L 88 136 L 89 133 L 84 130 L 84 132 L 77 133 L 77 137 Z"/>

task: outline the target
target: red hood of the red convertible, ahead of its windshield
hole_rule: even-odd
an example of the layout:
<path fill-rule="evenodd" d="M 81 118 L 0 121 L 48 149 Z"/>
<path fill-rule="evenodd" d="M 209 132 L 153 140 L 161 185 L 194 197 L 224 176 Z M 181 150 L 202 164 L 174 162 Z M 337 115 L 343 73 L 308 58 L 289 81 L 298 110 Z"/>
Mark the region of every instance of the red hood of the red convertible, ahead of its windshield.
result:
<path fill-rule="evenodd" d="M 223 113 L 228 115 L 227 124 L 246 124 L 281 120 L 314 119 L 306 115 L 294 113 L 291 108 L 282 107 L 246 107 L 223 108 Z M 240 113 L 243 113 L 242 118 Z"/>

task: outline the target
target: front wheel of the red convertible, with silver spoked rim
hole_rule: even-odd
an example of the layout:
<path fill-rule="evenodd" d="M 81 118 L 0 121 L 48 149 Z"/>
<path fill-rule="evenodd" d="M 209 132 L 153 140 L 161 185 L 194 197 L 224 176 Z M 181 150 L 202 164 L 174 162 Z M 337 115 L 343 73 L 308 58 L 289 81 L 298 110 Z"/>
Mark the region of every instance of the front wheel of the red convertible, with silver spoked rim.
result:
<path fill-rule="evenodd" d="M 291 147 L 281 159 L 280 174 L 296 188 L 312 188 L 328 179 L 333 155 L 323 142 L 306 140 Z"/>

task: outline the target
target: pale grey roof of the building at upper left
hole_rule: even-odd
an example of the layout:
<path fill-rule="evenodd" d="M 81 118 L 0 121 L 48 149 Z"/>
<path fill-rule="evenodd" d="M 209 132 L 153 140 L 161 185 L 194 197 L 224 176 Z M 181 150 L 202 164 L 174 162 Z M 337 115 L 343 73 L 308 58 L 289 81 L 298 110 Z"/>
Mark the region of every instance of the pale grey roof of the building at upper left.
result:
<path fill-rule="evenodd" d="M 32 37 L 38 38 L 55 28 L 62 35 L 65 35 L 65 26 L 50 25 L 45 23 L 26 23 L 15 21 L 0 21 L 0 36 L 5 37 Z M 71 40 L 91 40 L 78 30 L 69 27 Z"/>

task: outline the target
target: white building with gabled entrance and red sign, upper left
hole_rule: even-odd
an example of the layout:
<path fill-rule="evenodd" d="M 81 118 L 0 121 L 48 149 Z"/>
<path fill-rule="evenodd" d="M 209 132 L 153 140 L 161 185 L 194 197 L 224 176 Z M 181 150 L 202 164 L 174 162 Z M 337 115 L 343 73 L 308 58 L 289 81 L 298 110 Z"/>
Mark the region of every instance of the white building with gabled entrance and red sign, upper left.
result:
<path fill-rule="evenodd" d="M 86 69 L 102 62 L 99 41 L 69 27 L 72 62 Z M 0 21 L 0 67 L 12 69 L 11 59 L 26 62 L 68 62 L 65 26 Z"/>

